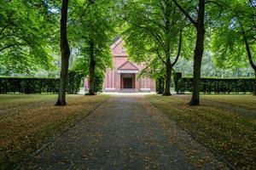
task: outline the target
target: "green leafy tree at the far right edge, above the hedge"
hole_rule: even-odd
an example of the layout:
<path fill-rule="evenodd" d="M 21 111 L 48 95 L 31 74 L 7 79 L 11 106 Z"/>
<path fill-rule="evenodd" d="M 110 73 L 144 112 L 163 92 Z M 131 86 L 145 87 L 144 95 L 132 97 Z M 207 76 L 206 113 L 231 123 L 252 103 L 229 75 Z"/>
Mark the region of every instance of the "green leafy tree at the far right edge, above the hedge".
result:
<path fill-rule="evenodd" d="M 220 25 L 212 36 L 212 50 L 219 67 L 251 65 L 255 73 L 253 95 L 256 95 L 256 64 L 253 61 L 256 59 L 253 56 L 256 50 L 255 7 L 253 1 L 230 1 L 225 5 Z"/>

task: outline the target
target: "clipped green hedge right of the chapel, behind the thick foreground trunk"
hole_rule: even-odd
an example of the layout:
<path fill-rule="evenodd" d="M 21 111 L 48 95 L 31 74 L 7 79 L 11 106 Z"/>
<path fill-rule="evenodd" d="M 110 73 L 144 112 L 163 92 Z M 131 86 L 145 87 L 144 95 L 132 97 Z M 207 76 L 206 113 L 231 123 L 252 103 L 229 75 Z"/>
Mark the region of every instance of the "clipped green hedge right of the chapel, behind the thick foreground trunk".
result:
<path fill-rule="evenodd" d="M 177 94 L 192 92 L 192 77 L 178 77 L 175 81 Z M 253 93 L 254 78 L 201 78 L 201 93 L 230 94 Z"/>

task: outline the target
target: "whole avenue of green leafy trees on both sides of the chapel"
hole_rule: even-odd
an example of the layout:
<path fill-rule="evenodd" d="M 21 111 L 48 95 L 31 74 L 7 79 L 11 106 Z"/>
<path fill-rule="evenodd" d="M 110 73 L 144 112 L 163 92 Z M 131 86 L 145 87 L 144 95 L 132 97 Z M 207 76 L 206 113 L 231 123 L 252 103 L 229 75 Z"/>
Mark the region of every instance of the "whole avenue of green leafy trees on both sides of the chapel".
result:
<path fill-rule="evenodd" d="M 109 45 L 125 39 L 132 60 L 143 62 L 151 77 L 163 77 L 171 95 L 171 77 L 180 59 L 193 60 L 190 105 L 200 105 L 205 54 L 223 69 L 255 72 L 256 2 L 254 0 L 0 0 L 0 71 L 26 73 L 56 69 L 61 83 L 55 105 L 67 105 L 68 71 L 90 77 L 111 67 Z M 76 54 L 73 65 L 70 56 Z M 61 58 L 59 57 L 61 56 Z"/>

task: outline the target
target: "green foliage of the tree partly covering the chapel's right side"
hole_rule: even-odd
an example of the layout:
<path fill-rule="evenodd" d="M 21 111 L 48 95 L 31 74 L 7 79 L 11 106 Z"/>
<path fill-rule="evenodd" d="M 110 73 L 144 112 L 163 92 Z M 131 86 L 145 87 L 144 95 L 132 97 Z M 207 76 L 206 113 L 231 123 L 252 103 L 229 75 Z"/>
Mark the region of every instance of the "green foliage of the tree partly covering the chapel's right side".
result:
<path fill-rule="evenodd" d="M 122 36 L 129 57 L 146 65 L 141 76 L 162 75 L 169 60 L 171 64 L 175 63 L 179 32 L 184 29 L 188 35 L 186 18 L 172 1 L 125 1 L 122 13 L 125 20 Z M 189 58 L 190 54 L 183 51 L 189 52 L 191 42 L 188 43 L 189 37 L 183 36 L 182 39 L 182 55 Z M 183 44 L 189 48 L 183 48 Z"/>

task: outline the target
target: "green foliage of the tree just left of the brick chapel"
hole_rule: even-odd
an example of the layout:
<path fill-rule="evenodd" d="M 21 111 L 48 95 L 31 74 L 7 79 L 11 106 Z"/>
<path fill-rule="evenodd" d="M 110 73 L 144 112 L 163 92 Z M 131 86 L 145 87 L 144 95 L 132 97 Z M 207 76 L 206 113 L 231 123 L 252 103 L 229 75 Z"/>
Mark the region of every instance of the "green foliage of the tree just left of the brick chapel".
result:
<path fill-rule="evenodd" d="M 116 33 L 115 5 L 113 1 L 71 3 L 69 39 L 72 47 L 78 49 L 72 69 L 83 72 L 84 76 L 89 73 L 90 41 L 95 44 L 96 69 L 101 72 L 112 66 L 109 46 Z"/>

